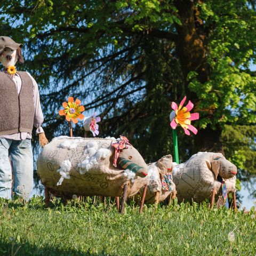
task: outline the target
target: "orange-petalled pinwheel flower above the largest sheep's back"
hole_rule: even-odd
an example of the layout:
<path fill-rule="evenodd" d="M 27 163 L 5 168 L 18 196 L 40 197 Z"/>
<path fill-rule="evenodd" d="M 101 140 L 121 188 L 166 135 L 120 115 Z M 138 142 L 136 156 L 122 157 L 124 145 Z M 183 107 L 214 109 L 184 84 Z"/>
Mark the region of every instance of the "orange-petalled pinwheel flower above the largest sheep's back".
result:
<path fill-rule="evenodd" d="M 68 122 L 72 121 L 74 124 L 76 124 L 78 122 L 77 118 L 79 119 L 83 119 L 84 115 L 81 114 L 84 111 L 84 106 L 81 105 L 81 100 L 76 99 L 76 101 L 74 102 L 74 98 L 73 97 L 69 97 L 68 98 L 68 103 L 67 102 L 63 102 L 62 106 L 65 109 L 61 109 L 59 111 L 59 115 L 60 116 L 66 116 L 66 120 Z"/>

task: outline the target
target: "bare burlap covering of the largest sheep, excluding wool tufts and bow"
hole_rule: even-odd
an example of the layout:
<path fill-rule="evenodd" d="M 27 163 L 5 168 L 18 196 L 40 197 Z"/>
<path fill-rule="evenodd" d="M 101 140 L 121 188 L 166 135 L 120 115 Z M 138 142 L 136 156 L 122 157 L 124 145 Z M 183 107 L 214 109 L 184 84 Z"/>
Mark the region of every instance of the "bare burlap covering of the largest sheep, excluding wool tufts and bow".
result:
<path fill-rule="evenodd" d="M 77 143 L 73 147 L 61 147 L 69 140 L 77 140 Z M 114 148 L 111 147 L 111 143 L 114 142 L 116 142 L 115 139 L 102 138 L 58 137 L 53 139 L 44 147 L 37 159 L 37 172 L 43 185 L 49 187 L 54 195 L 67 198 L 71 198 L 74 194 L 77 196 L 122 196 L 125 184 L 128 185 L 128 196 L 138 193 L 139 189 L 147 183 L 147 180 L 137 175 L 134 179 L 129 179 L 129 175 L 127 176 L 121 167 L 113 166 Z M 92 155 L 94 151 L 93 148 L 89 147 L 90 143 L 96 145 L 98 152 L 109 150 L 109 155 L 106 158 L 98 159 L 97 152 Z M 147 171 L 145 161 L 135 148 L 129 146 L 124 151 L 125 155 L 129 153 L 129 160 L 135 161 L 138 165 L 143 166 L 143 170 Z M 89 154 L 92 157 L 95 156 L 95 162 L 91 161 L 92 166 L 90 165 Z M 57 186 L 57 182 L 61 178 L 57 170 L 67 160 L 71 163 L 70 179 L 63 179 L 61 185 Z M 90 169 L 85 170 L 83 166 L 89 165 Z"/>

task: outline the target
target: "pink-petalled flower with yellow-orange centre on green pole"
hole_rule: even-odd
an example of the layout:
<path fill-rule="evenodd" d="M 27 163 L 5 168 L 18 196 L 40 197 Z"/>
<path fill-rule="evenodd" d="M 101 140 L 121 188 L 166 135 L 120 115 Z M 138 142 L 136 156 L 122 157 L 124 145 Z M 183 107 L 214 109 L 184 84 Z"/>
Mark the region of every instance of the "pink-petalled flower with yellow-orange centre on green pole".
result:
<path fill-rule="evenodd" d="M 179 124 L 183 128 L 185 134 L 190 135 L 189 130 L 194 134 L 197 134 L 197 129 L 191 125 L 191 121 L 199 119 L 199 114 L 190 114 L 189 111 L 194 107 L 194 104 L 191 101 L 188 102 L 186 107 L 183 107 L 186 99 L 187 97 L 185 96 L 180 102 L 179 108 L 175 102 L 172 102 L 172 109 L 174 111 L 170 114 L 171 127 L 172 129 L 176 129 Z"/>

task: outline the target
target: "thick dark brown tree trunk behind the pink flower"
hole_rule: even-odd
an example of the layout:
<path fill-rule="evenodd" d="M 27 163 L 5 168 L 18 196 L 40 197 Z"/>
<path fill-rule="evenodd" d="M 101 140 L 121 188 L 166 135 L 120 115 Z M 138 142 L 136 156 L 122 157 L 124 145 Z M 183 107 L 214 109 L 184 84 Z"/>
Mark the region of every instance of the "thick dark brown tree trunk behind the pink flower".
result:
<path fill-rule="evenodd" d="M 178 32 L 177 54 L 179 55 L 184 80 L 186 81 L 190 71 L 196 71 L 199 82 L 205 83 L 209 81 L 210 73 L 210 68 L 206 62 L 207 33 L 202 20 L 199 19 L 199 7 L 196 7 L 194 2 L 190 0 L 175 1 L 175 6 L 179 11 L 179 19 L 182 22 L 181 26 L 176 26 Z M 197 95 L 188 89 L 188 84 L 189 81 L 185 85 L 185 93 L 189 100 L 197 103 Z M 211 118 L 211 115 L 207 114 L 207 116 Z M 220 137 L 220 126 L 217 126 L 216 130 L 213 130 L 211 126 L 199 130 L 195 136 L 193 153 L 198 151 L 223 152 Z"/>

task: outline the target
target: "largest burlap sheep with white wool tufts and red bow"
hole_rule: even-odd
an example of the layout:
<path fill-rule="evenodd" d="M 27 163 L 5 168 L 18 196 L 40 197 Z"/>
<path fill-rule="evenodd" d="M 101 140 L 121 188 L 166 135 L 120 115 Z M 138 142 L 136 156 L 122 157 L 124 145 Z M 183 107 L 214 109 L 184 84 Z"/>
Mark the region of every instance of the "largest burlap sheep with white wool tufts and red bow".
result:
<path fill-rule="evenodd" d="M 146 193 L 148 165 L 123 138 L 54 138 L 37 159 L 37 172 L 46 192 L 49 190 L 53 195 L 67 199 L 74 194 L 123 196 L 123 201 L 141 188 Z M 127 145 L 118 151 L 115 147 L 121 142 L 127 142 Z M 161 172 L 161 168 L 158 165 L 156 171 Z"/>

